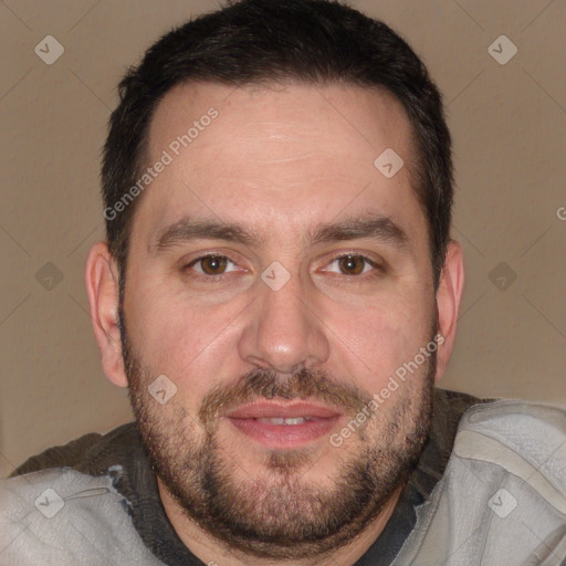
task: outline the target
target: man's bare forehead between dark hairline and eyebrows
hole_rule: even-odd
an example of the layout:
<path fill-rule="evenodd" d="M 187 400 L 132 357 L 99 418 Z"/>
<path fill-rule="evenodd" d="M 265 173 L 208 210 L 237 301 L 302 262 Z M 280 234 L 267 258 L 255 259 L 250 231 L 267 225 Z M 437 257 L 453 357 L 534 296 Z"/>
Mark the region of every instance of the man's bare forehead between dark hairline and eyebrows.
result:
<path fill-rule="evenodd" d="M 403 166 L 387 178 L 375 161 L 391 149 Z M 144 232 L 188 214 L 243 223 L 249 214 L 274 233 L 368 207 L 394 218 L 420 210 L 410 123 L 400 102 L 376 90 L 179 85 L 149 127 L 146 165 L 159 160 L 169 163 L 134 222 Z"/>

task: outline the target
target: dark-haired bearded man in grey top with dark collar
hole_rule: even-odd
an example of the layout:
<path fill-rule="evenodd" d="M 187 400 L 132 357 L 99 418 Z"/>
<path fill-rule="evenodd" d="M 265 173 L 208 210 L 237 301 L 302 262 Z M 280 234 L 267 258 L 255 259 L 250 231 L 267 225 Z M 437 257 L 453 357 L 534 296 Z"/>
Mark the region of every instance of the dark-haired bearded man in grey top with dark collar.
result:
<path fill-rule="evenodd" d="M 444 391 L 440 95 L 384 23 L 242 0 L 120 83 L 86 287 L 136 422 L 2 484 L 1 564 L 566 564 L 566 416 Z"/>

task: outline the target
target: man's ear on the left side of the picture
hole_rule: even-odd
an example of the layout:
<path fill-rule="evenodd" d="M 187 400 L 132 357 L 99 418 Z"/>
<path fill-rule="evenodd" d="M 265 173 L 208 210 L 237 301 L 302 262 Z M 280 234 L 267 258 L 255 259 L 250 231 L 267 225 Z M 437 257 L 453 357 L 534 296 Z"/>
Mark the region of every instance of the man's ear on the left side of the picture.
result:
<path fill-rule="evenodd" d="M 118 270 L 105 242 L 92 247 L 84 275 L 103 370 L 113 384 L 127 387 L 118 326 Z"/>

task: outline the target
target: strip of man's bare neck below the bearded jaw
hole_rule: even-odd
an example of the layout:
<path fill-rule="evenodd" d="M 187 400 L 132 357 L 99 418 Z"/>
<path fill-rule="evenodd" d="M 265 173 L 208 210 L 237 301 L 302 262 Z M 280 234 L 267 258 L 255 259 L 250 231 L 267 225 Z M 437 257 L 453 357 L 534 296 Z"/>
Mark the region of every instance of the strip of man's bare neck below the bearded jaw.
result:
<path fill-rule="evenodd" d="M 160 479 L 157 480 L 157 483 L 167 517 L 177 532 L 177 535 L 192 554 L 210 566 L 335 566 L 336 564 L 352 566 L 368 551 L 382 533 L 399 501 L 399 495 L 402 490 L 402 486 L 399 486 L 394 492 L 382 506 L 379 515 L 347 546 L 336 548 L 332 554 L 324 556 L 313 556 L 298 560 L 269 560 L 227 547 L 187 516 L 177 500 L 161 483 Z"/>

